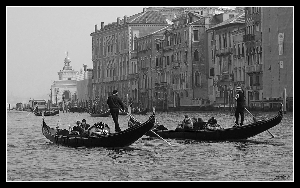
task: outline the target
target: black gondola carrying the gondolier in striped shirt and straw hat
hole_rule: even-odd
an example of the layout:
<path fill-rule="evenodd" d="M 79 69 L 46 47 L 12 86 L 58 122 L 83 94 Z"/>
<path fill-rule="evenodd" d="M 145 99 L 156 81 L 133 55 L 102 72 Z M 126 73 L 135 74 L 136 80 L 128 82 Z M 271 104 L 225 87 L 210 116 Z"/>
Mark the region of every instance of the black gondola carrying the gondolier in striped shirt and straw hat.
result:
<path fill-rule="evenodd" d="M 267 131 L 268 129 L 276 126 L 283 118 L 283 107 L 276 117 L 269 120 L 261 120 L 248 125 L 240 127 L 231 127 L 226 129 L 212 129 L 212 130 L 199 130 L 199 129 L 182 129 L 182 130 L 169 130 L 163 125 L 156 125 L 152 128 L 156 134 L 163 138 L 182 138 L 193 140 L 236 140 L 247 139 L 259 133 Z M 138 125 L 139 123 L 129 117 L 128 126 Z M 176 126 L 177 127 L 177 126 Z M 153 132 L 149 131 L 145 134 L 149 137 L 157 137 Z"/>

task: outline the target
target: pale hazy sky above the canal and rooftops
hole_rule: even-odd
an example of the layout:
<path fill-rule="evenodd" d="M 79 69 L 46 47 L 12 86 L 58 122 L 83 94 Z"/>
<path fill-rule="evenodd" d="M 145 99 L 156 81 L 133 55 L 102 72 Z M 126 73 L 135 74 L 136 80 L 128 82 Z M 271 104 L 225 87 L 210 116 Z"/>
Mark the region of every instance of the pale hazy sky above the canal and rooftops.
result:
<path fill-rule="evenodd" d="M 150 7 L 150 6 L 143 6 Z M 92 68 L 91 36 L 95 26 L 143 12 L 143 7 L 6 7 L 7 102 L 49 99 L 65 51 L 75 71 Z M 235 8 L 235 7 L 229 7 Z M 22 101 L 27 100 L 27 101 Z"/>

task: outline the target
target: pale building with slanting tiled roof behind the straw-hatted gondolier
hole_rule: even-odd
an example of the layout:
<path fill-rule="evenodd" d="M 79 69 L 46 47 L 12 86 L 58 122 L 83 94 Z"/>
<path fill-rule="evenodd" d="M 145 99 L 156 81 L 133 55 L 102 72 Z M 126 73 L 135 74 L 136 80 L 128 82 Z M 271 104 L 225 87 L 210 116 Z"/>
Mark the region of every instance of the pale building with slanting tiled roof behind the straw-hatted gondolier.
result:
<path fill-rule="evenodd" d="M 234 80 L 243 77 L 239 73 L 243 73 L 241 59 L 244 57 L 241 56 L 241 50 L 235 50 L 234 47 L 241 46 L 241 39 L 238 39 L 238 36 L 241 38 L 241 31 L 238 30 L 244 29 L 244 13 L 233 10 L 215 17 L 221 22 L 207 31 L 209 99 L 213 104 L 229 104 L 237 84 L 244 89 L 244 83 Z"/>

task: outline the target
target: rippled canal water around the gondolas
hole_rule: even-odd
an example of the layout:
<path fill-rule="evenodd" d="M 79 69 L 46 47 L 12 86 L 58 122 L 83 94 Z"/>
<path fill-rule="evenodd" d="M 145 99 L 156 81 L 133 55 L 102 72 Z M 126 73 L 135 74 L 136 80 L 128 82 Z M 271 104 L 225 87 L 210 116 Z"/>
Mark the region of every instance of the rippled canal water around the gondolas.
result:
<path fill-rule="evenodd" d="M 267 120 L 277 112 L 251 112 Z M 41 116 L 26 111 L 7 111 L 7 181 L 294 181 L 293 112 L 287 112 L 277 126 L 247 140 L 200 141 L 143 136 L 122 148 L 68 147 L 50 142 L 41 132 Z M 224 128 L 235 124 L 232 111 L 156 112 L 157 120 L 174 130 L 185 114 L 214 116 Z M 77 117 L 76 117 L 77 116 Z M 141 122 L 146 115 L 134 115 Z M 122 130 L 126 116 L 119 116 Z M 77 120 L 102 121 L 115 132 L 112 117 L 91 117 L 87 113 L 45 116 L 50 127 L 68 129 Z M 244 125 L 252 123 L 245 112 Z M 274 179 L 279 176 L 279 179 Z"/>

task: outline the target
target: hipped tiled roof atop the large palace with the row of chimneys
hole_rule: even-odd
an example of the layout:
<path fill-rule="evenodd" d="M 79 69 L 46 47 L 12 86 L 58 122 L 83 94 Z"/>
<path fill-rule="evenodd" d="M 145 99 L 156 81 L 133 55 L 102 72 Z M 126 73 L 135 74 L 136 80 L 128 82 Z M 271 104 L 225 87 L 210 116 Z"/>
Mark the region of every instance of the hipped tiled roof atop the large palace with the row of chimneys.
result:
<path fill-rule="evenodd" d="M 146 11 L 136 18 L 132 20 L 128 20 L 128 23 L 145 23 L 145 17 L 148 17 L 148 23 L 154 24 L 154 23 L 164 23 L 164 16 L 161 14 L 158 10 L 152 10 L 152 11 Z"/>

